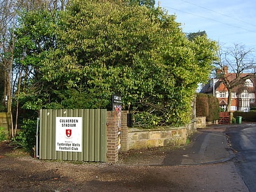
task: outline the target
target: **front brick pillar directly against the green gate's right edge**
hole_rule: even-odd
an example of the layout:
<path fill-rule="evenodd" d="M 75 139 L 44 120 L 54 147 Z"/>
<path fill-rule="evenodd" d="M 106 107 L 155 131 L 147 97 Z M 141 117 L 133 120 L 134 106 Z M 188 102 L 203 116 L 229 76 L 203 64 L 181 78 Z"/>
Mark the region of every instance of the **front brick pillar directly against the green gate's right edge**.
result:
<path fill-rule="evenodd" d="M 118 162 L 117 112 L 107 112 L 107 162 Z"/>

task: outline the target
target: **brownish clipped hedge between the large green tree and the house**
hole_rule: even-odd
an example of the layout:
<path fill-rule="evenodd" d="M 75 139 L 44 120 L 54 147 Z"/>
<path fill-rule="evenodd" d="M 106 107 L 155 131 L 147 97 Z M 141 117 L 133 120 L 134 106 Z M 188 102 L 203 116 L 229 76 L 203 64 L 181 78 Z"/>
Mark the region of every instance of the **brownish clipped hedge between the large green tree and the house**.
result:
<path fill-rule="evenodd" d="M 219 119 L 218 99 L 211 95 L 197 93 L 196 116 L 206 116 L 207 121 Z"/>

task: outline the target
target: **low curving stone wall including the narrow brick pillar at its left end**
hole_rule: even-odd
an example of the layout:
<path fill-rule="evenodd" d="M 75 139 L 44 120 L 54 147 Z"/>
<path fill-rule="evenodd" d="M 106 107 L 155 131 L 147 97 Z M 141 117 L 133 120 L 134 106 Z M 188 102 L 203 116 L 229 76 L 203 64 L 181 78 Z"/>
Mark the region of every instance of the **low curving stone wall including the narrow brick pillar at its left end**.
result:
<path fill-rule="evenodd" d="M 127 112 L 122 112 L 121 151 L 160 146 L 179 146 L 196 132 L 196 119 L 183 127 L 157 127 L 155 129 L 128 128 Z"/>

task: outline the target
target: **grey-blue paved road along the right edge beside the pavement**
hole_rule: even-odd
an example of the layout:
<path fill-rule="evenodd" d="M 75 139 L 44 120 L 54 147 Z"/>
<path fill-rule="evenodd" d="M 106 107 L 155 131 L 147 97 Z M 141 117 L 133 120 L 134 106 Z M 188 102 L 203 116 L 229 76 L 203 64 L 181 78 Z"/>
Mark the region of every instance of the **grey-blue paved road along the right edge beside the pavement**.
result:
<path fill-rule="evenodd" d="M 242 124 L 226 129 L 235 150 L 235 165 L 249 191 L 256 191 L 256 124 Z"/>

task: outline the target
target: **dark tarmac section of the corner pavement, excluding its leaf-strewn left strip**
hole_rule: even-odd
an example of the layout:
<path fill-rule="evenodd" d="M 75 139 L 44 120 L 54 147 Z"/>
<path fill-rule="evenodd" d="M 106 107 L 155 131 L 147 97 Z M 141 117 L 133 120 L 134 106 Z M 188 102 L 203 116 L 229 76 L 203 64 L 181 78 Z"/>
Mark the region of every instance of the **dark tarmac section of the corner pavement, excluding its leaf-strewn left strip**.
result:
<path fill-rule="evenodd" d="M 182 151 L 167 154 L 163 164 L 202 165 L 226 162 L 234 157 L 224 129 L 199 130 L 192 139 L 191 144 L 183 148 Z M 180 159 L 173 158 L 174 156 L 180 157 Z"/>

